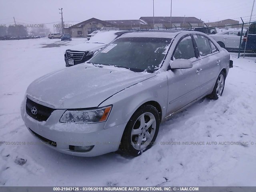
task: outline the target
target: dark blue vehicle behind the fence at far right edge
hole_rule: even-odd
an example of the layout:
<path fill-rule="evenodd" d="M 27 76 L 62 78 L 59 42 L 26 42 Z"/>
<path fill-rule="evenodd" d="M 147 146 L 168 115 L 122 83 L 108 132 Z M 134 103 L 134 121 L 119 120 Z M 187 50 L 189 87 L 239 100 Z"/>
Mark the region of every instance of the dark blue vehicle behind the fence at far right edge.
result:
<path fill-rule="evenodd" d="M 250 24 L 248 30 L 246 31 L 243 42 L 241 44 L 242 50 L 245 49 L 245 45 L 246 52 L 256 53 L 256 23 Z"/>

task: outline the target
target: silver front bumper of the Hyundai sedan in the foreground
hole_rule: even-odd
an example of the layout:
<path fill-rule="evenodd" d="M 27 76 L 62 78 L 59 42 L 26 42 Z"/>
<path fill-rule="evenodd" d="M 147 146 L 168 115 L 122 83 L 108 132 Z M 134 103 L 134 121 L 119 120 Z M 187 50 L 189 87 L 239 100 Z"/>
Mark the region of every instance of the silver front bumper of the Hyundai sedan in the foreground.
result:
<path fill-rule="evenodd" d="M 26 100 L 26 99 L 25 99 Z M 98 156 L 118 150 L 126 124 L 104 129 L 106 122 L 96 124 L 60 123 L 65 110 L 54 110 L 47 121 L 37 121 L 26 113 L 22 104 L 22 119 L 36 138 L 50 148 L 74 156 Z M 70 149 L 70 146 L 93 146 L 86 152 Z"/>

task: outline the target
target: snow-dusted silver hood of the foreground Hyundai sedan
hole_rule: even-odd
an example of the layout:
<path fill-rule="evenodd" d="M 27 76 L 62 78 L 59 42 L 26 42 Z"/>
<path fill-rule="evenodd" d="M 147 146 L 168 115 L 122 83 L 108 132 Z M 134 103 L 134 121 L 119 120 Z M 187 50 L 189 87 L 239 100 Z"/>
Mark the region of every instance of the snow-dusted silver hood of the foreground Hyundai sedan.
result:
<path fill-rule="evenodd" d="M 55 109 L 91 108 L 153 76 L 114 66 L 80 64 L 38 78 L 28 86 L 27 95 Z"/>

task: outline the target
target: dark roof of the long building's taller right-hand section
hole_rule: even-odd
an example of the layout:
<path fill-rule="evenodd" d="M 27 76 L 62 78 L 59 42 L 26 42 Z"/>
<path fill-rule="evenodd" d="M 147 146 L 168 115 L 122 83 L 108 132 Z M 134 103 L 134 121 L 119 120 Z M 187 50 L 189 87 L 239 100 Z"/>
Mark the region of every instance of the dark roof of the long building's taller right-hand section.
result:
<path fill-rule="evenodd" d="M 153 17 L 141 17 L 140 20 L 143 20 L 146 23 L 153 23 Z M 172 17 L 172 23 L 183 23 L 184 17 Z M 154 17 L 154 23 L 165 23 L 170 22 L 170 17 Z M 198 23 L 203 22 L 202 20 L 196 17 L 185 17 L 185 22 L 188 23 Z"/>

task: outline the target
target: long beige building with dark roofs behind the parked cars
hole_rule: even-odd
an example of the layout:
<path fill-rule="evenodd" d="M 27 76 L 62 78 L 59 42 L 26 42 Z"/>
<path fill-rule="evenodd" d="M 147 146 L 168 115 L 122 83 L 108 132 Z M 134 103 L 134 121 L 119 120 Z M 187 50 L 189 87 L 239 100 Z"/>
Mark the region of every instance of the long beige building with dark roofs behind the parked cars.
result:
<path fill-rule="evenodd" d="M 96 18 L 91 18 L 80 22 L 69 28 L 64 28 L 65 33 L 70 33 L 72 37 L 86 37 L 87 34 L 95 30 L 115 29 L 115 30 L 140 30 L 152 28 L 194 28 L 204 26 L 202 20 L 195 17 L 141 17 L 139 20 L 106 20 L 102 21 Z"/>

